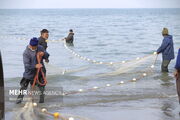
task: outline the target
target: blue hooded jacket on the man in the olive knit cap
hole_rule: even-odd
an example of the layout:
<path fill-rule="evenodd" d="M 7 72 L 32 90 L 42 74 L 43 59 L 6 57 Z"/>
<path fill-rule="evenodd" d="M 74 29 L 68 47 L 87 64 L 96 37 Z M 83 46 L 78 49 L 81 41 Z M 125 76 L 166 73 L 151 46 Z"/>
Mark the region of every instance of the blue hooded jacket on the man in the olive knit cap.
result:
<path fill-rule="evenodd" d="M 163 42 L 157 53 L 162 53 L 163 60 L 174 59 L 174 43 L 171 35 L 164 36 Z"/>

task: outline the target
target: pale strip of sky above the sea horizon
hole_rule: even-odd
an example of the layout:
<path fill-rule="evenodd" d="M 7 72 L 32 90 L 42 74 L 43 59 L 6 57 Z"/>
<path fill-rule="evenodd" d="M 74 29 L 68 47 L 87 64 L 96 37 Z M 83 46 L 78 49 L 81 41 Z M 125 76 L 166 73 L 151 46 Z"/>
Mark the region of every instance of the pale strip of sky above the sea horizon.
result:
<path fill-rule="evenodd" d="M 180 0 L 0 0 L 0 9 L 180 8 Z"/>

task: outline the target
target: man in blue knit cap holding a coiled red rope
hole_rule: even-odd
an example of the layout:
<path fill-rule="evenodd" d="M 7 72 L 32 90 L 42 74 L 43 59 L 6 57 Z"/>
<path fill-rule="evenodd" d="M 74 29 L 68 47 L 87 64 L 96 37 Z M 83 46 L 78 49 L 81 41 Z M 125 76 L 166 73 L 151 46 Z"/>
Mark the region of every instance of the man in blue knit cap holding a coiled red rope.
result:
<path fill-rule="evenodd" d="M 40 63 L 37 62 L 37 54 L 42 57 L 42 60 Z M 30 40 L 29 45 L 26 47 L 24 53 L 23 53 L 23 62 L 24 62 L 24 68 L 25 71 L 23 73 L 23 78 L 20 82 L 22 90 L 27 90 L 27 87 L 29 83 L 32 85 L 34 82 L 34 77 L 36 75 L 37 69 L 42 68 L 42 71 L 44 74 L 46 74 L 46 68 L 43 63 L 43 59 L 48 59 L 49 54 L 44 50 L 44 48 L 40 45 L 38 45 L 38 39 L 32 38 Z M 42 77 L 42 74 L 39 74 L 39 81 L 41 83 L 44 82 L 44 79 Z M 39 90 L 41 92 L 39 103 L 44 103 L 44 90 L 45 85 L 37 85 L 39 87 Z M 24 95 L 20 94 L 17 98 L 16 103 L 19 104 L 22 102 Z"/>

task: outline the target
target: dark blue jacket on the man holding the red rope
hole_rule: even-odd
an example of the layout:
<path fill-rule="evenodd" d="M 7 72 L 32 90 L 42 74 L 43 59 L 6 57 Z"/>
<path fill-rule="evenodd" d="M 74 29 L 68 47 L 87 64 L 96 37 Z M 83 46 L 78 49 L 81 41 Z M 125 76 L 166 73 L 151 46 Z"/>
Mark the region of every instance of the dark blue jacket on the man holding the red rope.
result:
<path fill-rule="evenodd" d="M 23 62 L 24 62 L 24 73 L 23 77 L 25 79 L 33 80 L 34 76 L 36 74 L 36 64 L 37 64 L 37 59 L 36 59 L 36 53 L 42 51 L 44 52 L 43 59 L 48 59 L 49 54 L 46 53 L 44 48 L 41 45 L 38 45 L 38 48 L 36 51 L 32 51 L 28 46 L 26 47 L 24 53 L 23 53 Z M 41 64 L 43 65 L 43 70 L 44 72 L 46 71 L 45 66 L 43 64 L 43 60 L 41 61 Z"/>

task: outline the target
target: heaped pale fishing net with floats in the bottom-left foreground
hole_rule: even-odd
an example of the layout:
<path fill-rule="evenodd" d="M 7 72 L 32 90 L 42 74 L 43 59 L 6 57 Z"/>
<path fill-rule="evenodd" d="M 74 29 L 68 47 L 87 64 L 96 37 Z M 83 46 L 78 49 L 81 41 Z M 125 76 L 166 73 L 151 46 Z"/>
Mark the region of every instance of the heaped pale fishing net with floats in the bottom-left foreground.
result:
<path fill-rule="evenodd" d="M 35 103 L 32 103 L 30 101 L 26 102 L 24 107 L 20 108 L 19 110 L 16 109 L 15 111 L 15 120 L 90 120 L 88 118 L 72 115 L 72 114 L 66 114 L 66 113 L 58 113 L 58 117 L 54 117 L 54 114 L 56 113 L 50 113 L 47 111 L 47 109 L 40 109 L 37 106 L 34 106 Z"/>

